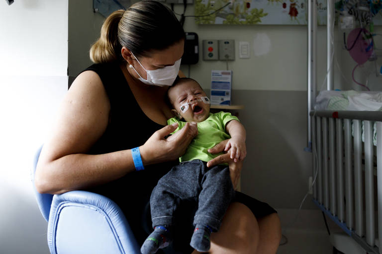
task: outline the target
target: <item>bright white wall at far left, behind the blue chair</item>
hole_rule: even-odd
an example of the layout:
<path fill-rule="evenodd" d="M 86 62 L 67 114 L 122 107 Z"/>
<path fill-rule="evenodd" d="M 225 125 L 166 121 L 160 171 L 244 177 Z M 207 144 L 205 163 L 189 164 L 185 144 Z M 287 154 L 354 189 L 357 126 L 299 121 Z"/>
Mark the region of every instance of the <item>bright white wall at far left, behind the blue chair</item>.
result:
<path fill-rule="evenodd" d="M 49 253 L 30 181 L 67 90 L 68 0 L 0 1 L 0 253 Z"/>

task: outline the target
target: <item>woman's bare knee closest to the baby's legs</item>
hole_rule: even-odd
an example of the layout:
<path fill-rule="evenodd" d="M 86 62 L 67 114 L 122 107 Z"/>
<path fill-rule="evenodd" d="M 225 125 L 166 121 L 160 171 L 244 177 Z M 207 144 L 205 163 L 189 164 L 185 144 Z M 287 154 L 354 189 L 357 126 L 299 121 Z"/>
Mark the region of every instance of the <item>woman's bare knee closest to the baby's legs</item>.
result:
<path fill-rule="evenodd" d="M 259 225 L 251 210 L 242 203 L 232 203 L 219 232 L 211 236 L 211 252 L 253 254 L 259 243 Z"/>

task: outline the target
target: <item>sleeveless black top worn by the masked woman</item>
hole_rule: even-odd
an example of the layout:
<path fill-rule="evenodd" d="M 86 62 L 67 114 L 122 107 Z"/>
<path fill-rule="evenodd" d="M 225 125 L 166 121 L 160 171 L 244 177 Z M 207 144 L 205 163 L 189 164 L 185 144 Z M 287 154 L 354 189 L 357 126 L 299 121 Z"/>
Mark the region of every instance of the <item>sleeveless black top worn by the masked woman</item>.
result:
<path fill-rule="evenodd" d="M 144 144 L 156 130 L 163 127 L 149 119 L 141 110 L 119 64 L 93 64 L 85 70 L 98 74 L 110 101 L 108 126 L 90 149 L 90 154 L 132 149 Z M 111 198 L 131 224 L 134 223 L 132 219 L 136 220 L 135 217 L 141 215 L 158 180 L 176 164 L 179 161 L 145 166 L 145 170 L 128 173 L 116 181 L 88 191 Z"/>

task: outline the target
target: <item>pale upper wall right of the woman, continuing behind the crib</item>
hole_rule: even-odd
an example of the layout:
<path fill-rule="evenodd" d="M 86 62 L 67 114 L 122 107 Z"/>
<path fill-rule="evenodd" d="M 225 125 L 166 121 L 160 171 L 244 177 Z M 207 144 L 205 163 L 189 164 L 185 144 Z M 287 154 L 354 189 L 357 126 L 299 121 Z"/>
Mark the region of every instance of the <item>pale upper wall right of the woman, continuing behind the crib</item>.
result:
<path fill-rule="evenodd" d="M 183 12 L 182 5 L 176 5 L 177 13 Z M 193 5 L 188 5 L 186 15 L 194 15 Z M 187 17 L 184 29 L 196 32 L 199 36 L 199 62 L 191 65 L 191 77 L 197 78 L 203 88 L 210 88 L 211 69 L 225 69 L 225 61 L 203 61 L 201 41 L 206 39 L 235 40 L 235 61 L 229 61 L 233 70 L 233 88 L 245 90 L 273 91 L 306 91 L 307 90 L 307 26 L 306 25 L 196 25 L 193 17 Z M 375 27 L 376 33 L 381 27 Z M 346 50 L 342 50 L 343 38 L 338 36 L 335 26 L 336 55 L 335 66 L 336 87 L 339 89 L 360 89 L 352 81 L 352 69 L 356 65 Z M 259 40 L 257 38 L 266 38 Z M 382 46 L 382 36 L 375 36 L 376 45 Z M 250 42 L 251 58 L 239 59 L 239 41 Z M 254 49 L 264 54 L 255 56 Z M 263 50 L 267 49 L 268 50 Z M 382 65 L 382 50 L 377 63 Z M 373 64 L 373 65 L 372 65 Z M 341 66 L 341 71 L 339 67 Z M 355 77 L 359 82 L 366 82 L 369 77 L 371 88 L 382 90 L 382 76 L 370 74 L 374 63 L 367 63 L 356 70 Z M 182 70 L 188 75 L 188 66 Z M 344 83 L 345 76 L 348 81 Z M 318 26 L 317 33 L 317 89 L 322 90 L 326 75 L 326 26 Z M 373 76 L 374 75 L 374 76 Z M 341 82 L 341 83 L 340 83 Z M 326 85 L 326 84 L 325 84 Z M 323 88 L 325 88 L 325 85 Z"/>

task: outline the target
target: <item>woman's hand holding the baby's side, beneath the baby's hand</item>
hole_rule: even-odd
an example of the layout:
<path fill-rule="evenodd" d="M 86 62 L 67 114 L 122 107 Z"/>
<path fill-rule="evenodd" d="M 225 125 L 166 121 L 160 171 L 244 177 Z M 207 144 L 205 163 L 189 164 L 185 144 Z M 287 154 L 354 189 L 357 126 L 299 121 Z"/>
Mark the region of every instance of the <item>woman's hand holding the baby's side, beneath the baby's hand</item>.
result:
<path fill-rule="evenodd" d="M 229 139 L 223 140 L 211 149 L 208 149 L 209 153 L 220 153 L 223 152 Z M 213 158 L 209 162 L 207 162 L 207 167 L 212 167 L 217 164 L 221 163 L 228 163 L 229 166 L 229 175 L 231 176 L 231 181 L 233 185 L 233 189 L 236 190 L 237 185 L 239 183 L 240 179 L 240 173 L 241 169 L 243 167 L 243 162 L 242 161 L 237 161 L 235 162 L 234 159 L 231 159 L 231 153 L 228 151 L 225 154 L 221 154 L 217 156 L 216 158 Z"/>

